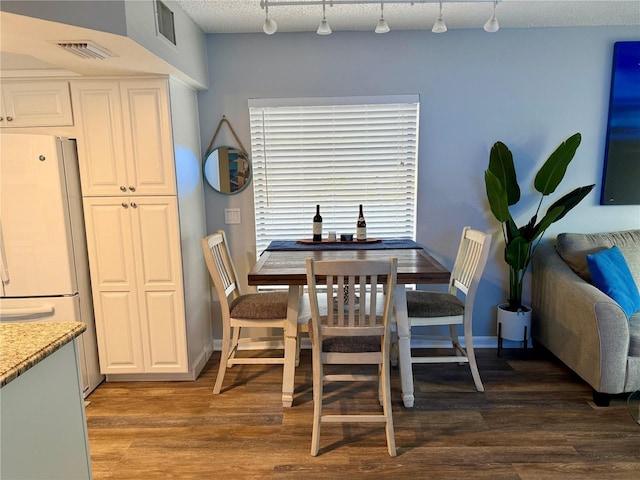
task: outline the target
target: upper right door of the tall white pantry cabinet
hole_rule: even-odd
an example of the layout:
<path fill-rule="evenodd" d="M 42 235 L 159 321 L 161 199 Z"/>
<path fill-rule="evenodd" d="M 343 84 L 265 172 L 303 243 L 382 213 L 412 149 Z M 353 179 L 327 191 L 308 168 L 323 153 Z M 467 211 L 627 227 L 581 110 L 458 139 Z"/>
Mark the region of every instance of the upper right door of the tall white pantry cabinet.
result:
<path fill-rule="evenodd" d="M 132 195 L 175 195 L 169 94 L 165 80 L 120 82 Z"/>

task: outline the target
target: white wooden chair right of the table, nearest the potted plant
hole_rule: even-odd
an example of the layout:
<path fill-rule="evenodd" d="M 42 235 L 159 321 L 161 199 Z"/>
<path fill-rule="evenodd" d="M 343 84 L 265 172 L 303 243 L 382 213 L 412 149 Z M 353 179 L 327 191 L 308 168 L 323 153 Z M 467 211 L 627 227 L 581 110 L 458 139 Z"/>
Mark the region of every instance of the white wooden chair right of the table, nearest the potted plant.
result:
<path fill-rule="evenodd" d="M 491 235 L 464 227 L 458 254 L 449 280 L 448 293 L 422 290 L 407 291 L 407 313 L 411 329 L 433 325 L 448 325 L 453 354 L 444 356 L 417 356 L 411 349 L 411 364 L 414 363 L 468 363 L 471 375 L 479 392 L 484 392 L 478 365 L 473 350 L 473 304 L 489 256 Z M 463 300 L 459 297 L 461 293 Z M 463 326 L 465 347 L 458 341 L 458 325 Z M 415 343 L 415 342 L 414 342 Z M 411 367 L 413 375 L 413 366 Z"/>

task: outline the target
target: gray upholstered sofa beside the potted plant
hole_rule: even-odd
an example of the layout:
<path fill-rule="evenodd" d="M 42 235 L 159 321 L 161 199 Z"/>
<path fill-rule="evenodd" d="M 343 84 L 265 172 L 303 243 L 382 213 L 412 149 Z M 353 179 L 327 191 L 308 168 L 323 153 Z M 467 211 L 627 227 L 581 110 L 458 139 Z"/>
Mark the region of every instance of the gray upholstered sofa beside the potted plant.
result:
<path fill-rule="evenodd" d="M 563 233 L 532 261 L 532 335 L 593 388 L 597 405 L 640 389 L 640 312 L 590 283 L 586 254 L 617 245 L 640 289 L 640 230 Z"/>

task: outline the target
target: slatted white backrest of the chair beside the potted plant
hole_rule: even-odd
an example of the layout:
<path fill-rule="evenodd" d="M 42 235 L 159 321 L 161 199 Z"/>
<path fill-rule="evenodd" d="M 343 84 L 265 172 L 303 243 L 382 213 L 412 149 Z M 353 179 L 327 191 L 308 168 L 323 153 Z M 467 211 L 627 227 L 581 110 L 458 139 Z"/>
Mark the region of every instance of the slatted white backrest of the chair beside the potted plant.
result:
<path fill-rule="evenodd" d="M 451 271 L 449 293 L 460 290 L 466 295 L 467 303 L 473 302 L 489 258 L 491 235 L 471 227 L 464 227 L 456 261 Z"/>

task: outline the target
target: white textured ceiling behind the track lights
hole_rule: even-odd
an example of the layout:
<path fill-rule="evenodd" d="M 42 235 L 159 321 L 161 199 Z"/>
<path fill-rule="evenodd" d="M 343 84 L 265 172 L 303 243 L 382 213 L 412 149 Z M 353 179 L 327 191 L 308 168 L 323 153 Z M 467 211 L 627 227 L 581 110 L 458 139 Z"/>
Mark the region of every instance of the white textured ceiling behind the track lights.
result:
<path fill-rule="evenodd" d="M 278 32 L 314 32 L 322 18 L 322 6 L 282 6 L 286 0 L 269 1 L 269 16 Z M 303 4 L 300 0 L 295 3 Z M 260 0 L 176 0 L 205 33 L 262 32 L 265 11 Z M 380 3 L 351 0 L 326 2 L 326 17 L 333 31 L 373 30 L 380 16 Z M 359 4 L 358 4 L 359 3 Z M 412 4 L 413 3 L 413 4 Z M 482 28 L 493 3 L 481 1 L 443 2 L 442 13 L 449 30 Z M 438 16 L 438 3 L 420 0 L 386 2 L 384 17 L 391 30 L 430 29 Z M 500 28 L 640 25 L 639 0 L 502 0 L 496 8 Z"/>

